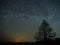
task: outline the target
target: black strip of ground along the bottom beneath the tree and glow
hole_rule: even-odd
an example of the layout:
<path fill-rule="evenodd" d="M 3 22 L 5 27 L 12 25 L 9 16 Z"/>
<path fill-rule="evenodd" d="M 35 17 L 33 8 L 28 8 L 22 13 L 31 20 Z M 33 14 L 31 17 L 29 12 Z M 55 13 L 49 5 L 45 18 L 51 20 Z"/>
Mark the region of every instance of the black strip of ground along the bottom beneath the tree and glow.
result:
<path fill-rule="evenodd" d="M 37 42 L 0 42 L 0 45 L 60 45 L 60 40 L 54 41 L 37 41 Z"/>

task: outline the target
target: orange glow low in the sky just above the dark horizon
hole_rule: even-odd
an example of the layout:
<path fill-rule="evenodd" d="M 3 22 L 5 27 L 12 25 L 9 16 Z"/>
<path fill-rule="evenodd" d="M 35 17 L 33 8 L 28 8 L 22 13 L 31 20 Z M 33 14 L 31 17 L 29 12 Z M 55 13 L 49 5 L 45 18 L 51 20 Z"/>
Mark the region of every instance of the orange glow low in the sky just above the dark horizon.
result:
<path fill-rule="evenodd" d="M 12 42 L 30 42 L 30 35 L 28 34 L 21 34 L 20 36 L 13 36 Z"/>

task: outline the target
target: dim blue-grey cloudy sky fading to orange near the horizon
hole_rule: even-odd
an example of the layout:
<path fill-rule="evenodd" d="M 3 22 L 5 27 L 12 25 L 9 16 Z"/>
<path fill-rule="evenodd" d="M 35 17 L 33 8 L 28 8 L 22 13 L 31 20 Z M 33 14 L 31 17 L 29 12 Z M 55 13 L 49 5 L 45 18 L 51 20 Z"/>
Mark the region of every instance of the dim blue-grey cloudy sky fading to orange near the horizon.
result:
<path fill-rule="evenodd" d="M 0 37 L 34 41 L 43 19 L 60 37 L 60 0 L 0 0 Z"/>

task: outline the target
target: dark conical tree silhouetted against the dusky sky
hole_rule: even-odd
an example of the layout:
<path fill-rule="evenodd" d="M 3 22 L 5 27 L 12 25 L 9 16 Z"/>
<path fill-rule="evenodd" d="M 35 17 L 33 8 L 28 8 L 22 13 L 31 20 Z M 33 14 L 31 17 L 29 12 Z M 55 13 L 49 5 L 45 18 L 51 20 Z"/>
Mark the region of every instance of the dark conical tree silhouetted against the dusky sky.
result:
<path fill-rule="evenodd" d="M 43 41 L 47 39 L 55 39 L 56 33 L 53 32 L 52 27 L 49 26 L 46 20 L 43 19 L 39 31 L 35 34 L 36 41 Z"/>

